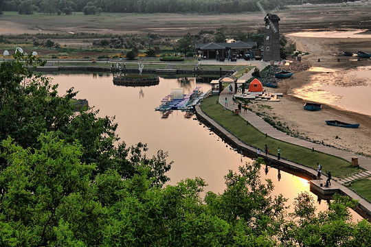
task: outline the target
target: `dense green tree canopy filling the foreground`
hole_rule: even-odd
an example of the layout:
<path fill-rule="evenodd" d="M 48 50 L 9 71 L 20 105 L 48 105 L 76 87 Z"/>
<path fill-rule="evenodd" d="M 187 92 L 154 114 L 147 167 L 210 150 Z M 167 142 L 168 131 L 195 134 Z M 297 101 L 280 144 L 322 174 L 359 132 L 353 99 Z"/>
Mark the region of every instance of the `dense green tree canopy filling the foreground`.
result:
<path fill-rule="evenodd" d="M 126 148 L 113 117 L 74 112 L 43 62 L 16 55 L 0 64 L 0 246 L 362 246 L 366 220 L 355 201 L 335 196 L 315 213 L 300 194 L 286 213 L 262 159 L 225 175 L 226 189 L 205 197 L 202 178 L 166 185 L 166 153 Z"/>

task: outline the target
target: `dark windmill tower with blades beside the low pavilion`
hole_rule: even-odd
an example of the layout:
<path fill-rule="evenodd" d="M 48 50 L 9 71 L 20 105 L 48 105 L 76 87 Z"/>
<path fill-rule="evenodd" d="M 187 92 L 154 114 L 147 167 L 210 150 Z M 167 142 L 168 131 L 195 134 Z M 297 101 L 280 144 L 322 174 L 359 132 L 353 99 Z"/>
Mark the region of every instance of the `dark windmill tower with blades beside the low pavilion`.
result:
<path fill-rule="evenodd" d="M 279 23 L 280 17 L 276 14 L 265 12 L 260 2 L 257 3 L 260 11 L 265 14 L 265 32 L 264 32 L 264 61 L 280 61 L 280 32 Z"/>

